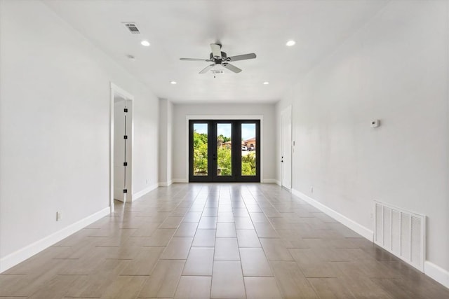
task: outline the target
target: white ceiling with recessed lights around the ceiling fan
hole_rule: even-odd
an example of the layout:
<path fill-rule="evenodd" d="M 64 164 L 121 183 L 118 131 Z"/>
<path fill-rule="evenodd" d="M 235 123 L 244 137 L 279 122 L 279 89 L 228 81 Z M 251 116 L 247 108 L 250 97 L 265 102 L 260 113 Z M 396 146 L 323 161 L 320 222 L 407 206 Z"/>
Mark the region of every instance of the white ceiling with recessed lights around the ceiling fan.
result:
<path fill-rule="evenodd" d="M 356 32 L 387 0 L 43 0 L 95 46 L 173 102 L 276 102 Z M 135 22 L 130 34 L 123 22 Z M 140 45 L 147 39 L 151 46 Z M 293 47 L 286 47 L 290 39 Z M 256 53 L 233 62 L 239 74 L 198 74 L 210 43 L 228 56 Z M 126 55 L 135 56 L 129 60 Z M 170 81 L 177 81 L 176 85 Z M 269 81 L 269 85 L 262 85 Z"/>

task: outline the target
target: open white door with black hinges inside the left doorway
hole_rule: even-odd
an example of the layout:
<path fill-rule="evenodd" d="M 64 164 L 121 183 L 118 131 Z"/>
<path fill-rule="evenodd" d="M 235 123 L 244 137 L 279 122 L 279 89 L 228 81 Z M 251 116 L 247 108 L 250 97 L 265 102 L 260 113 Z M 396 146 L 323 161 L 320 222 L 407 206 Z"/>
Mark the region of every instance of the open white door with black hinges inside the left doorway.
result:
<path fill-rule="evenodd" d="M 126 127 L 126 99 L 114 99 L 114 200 L 126 201 L 126 148 L 128 134 Z"/>

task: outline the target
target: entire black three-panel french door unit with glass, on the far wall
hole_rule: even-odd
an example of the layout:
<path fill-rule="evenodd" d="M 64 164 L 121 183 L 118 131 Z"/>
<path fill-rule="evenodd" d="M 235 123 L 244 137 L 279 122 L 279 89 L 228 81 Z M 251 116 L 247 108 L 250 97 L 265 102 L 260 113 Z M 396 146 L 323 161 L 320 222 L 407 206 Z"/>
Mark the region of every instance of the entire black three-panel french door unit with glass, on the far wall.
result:
<path fill-rule="evenodd" d="M 260 182 L 260 120 L 189 120 L 189 181 Z"/>

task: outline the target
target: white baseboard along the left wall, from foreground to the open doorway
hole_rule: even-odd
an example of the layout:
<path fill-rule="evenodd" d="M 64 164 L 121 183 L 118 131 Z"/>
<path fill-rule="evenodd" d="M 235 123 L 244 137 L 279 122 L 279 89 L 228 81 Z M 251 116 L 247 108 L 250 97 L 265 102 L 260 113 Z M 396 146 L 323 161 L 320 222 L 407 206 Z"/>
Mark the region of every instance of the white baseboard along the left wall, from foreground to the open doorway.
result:
<path fill-rule="evenodd" d="M 43 251 L 43 249 L 46 249 L 49 246 L 60 242 L 60 240 L 69 237 L 69 235 L 72 235 L 74 232 L 77 232 L 78 230 L 85 228 L 87 225 L 98 221 L 100 218 L 109 215 L 109 213 L 110 208 L 106 207 L 105 209 L 102 209 L 92 214 L 91 216 L 87 216 L 80 221 L 76 221 L 75 223 L 62 228 L 62 230 L 58 230 L 58 232 L 54 232 L 53 234 L 48 235 L 47 237 L 44 237 L 39 241 L 36 241 L 32 244 L 29 244 L 28 246 L 23 247 L 22 249 L 19 249 L 18 251 L 8 254 L 8 256 L 0 259 L 0 273 L 8 270 L 18 263 L 22 263 L 22 261 L 26 260 L 27 258 L 31 258 L 36 253 L 39 253 Z"/>

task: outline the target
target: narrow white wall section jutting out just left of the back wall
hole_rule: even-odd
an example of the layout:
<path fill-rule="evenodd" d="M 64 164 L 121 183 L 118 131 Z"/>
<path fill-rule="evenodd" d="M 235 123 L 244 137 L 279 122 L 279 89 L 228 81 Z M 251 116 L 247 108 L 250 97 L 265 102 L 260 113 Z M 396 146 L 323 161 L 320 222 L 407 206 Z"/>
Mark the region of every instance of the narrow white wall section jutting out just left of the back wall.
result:
<path fill-rule="evenodd" d="M 159 186 L 172 183 L 172 122 L 173 104 L 159 99 Z"/>

